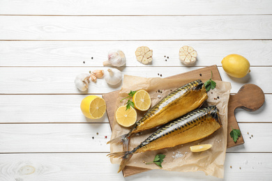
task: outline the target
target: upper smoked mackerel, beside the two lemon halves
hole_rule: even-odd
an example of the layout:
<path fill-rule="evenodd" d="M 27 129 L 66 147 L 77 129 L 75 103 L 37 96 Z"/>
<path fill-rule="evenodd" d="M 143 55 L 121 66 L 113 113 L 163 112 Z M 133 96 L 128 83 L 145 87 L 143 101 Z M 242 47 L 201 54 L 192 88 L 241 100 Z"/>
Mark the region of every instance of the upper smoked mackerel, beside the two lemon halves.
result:
<path fill-rule="evenodd" d="M 123 143 L 123 150 L 128 150 L 130 136 L 146 129 L 165 125 L 169 121 L 200 107 L 208 99 L 206 88 L 201 80 L 192 81 L 172 93 L 169 93 L 158 104 L 139 119 L 128 134 L 112 139 L 107 143 Z"/>

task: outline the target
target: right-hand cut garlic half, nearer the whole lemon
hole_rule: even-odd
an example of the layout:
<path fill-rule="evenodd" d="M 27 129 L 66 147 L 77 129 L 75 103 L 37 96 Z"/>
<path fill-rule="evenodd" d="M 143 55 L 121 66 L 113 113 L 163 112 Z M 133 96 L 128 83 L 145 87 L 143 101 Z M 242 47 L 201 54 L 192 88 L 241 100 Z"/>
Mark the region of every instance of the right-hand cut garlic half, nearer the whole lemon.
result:
<path fill-rule="evenodd" d="M 179 60 L 186 65 L 195 63 L 197 61 L 197 52 L 192 47 L 183 46 L 179 49 Z"/>

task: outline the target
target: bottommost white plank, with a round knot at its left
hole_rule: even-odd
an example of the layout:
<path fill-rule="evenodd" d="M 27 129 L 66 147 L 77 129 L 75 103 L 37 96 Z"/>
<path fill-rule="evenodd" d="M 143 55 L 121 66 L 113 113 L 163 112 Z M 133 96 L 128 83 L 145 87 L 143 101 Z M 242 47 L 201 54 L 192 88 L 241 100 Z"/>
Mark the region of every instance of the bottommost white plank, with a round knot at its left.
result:
<path fill-rule="evenodd" d="M 218 180 L 201 171 L 179 173 L 153 170 L 123 178 L 118 164 L 110 164 L 105 153 L 0 154 L 0 180 Z M 268 159 L 269 158 L 269 159 Z M 271 180 L 271 153 L 227 153 L 225 180 Z M 230 168 L 232 166 L 232 168 Z M 241 167 L 241 169 L 239 168 Z"/>

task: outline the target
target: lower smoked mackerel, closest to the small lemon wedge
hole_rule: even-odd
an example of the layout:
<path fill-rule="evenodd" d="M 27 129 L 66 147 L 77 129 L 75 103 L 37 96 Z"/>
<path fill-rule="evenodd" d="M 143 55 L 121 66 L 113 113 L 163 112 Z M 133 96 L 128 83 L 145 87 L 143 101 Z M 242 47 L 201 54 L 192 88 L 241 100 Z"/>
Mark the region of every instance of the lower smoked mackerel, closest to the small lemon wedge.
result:
<path fill-rule="evenodd" d="M 161 127 L 133 150 L 114 152 L 108 156 L 123 159 L 119 167 L 120 172 L 135 153 L 172 148 L 197 141 L 213 134 L 220 127 L 222 123 L 216 106 L 197 109 Z"/>

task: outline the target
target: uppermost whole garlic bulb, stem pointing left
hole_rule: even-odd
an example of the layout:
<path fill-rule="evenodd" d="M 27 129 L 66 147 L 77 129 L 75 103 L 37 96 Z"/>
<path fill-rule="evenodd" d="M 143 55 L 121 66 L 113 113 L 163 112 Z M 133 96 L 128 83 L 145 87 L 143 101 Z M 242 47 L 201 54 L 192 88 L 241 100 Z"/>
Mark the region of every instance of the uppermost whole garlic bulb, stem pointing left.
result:
<path fill-rule="evenodd" d="M 107 54 L 107 60 L 103 62 L 104 66 L 113 65 L 121 67 L 126 64 L 126 56 L 120 49 L 113 49 Z"/>

